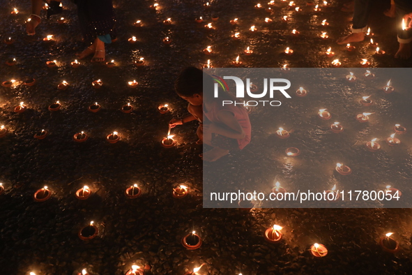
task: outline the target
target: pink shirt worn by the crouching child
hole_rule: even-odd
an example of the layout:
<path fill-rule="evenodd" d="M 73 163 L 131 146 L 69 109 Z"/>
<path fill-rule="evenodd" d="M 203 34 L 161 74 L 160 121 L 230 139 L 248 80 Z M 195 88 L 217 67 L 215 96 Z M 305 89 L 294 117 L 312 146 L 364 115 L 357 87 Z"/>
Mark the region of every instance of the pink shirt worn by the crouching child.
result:
<path fill-rule="evenodd" d="M 225 105 L 222 106 L 222 102 L 215 101 L 212 103 L 210 110 L 207 110 L 203 106 L 203 114 L 204 116 L 211 122 L 215 123 L 222 123 L 218 117 L 218 112 L 220 111 L 228 111 L 234 114 L 236 120 L 238 121 L 239 125 L 243 128 L 243 132 L 245 133 L 245 137 L 238 139 L 239 149 L 245 148 L 247 144 L 250 142 L 250 136 L 252 133 L 252 126 L 250 125 L 249 114 L 247 114 L 245 107 L 243 106 L 234 106 L 234 105 Z"/>

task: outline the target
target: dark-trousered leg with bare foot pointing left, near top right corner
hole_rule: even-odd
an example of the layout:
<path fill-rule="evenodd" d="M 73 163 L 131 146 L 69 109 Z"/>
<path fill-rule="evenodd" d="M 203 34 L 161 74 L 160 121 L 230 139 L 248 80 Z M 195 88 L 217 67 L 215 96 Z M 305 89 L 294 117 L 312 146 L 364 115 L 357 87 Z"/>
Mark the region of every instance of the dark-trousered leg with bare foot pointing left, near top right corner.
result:
<path fill-rule="evenodd" d="M 336 42 L 340 45 L 352 42 L 360 42 L 365 39 L 367 31 L 367 20 L 372 9 L 373 0 L 355 0 L 355 11 L 353 12 L 352 34 L 339 38 Z"/>

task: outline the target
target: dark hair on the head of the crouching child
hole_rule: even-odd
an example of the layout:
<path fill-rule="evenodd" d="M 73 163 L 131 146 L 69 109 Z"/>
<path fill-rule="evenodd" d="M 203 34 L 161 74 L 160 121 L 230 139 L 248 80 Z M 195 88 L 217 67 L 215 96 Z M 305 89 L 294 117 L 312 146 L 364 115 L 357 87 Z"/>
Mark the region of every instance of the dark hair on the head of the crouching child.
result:
<path fill-rule="evenodd" d="M 185 68 L 174 82 L 174 89 L 179 96 L 193 96 L 203 94 L 205 88 L 213 91 L 213 78 L 202 70 L 194 67 Z"/>

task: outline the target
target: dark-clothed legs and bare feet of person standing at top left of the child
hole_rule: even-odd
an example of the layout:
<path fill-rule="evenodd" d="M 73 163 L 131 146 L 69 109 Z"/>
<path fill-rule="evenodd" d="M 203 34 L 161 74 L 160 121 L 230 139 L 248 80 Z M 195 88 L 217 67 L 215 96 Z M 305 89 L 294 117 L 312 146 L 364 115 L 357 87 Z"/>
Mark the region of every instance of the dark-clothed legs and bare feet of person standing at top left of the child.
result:
<path fill-rule="evenodd" d="M 73 0 L 77 5 L 80 28 L 88 47 L 79 54 L 83 59 L 93 54 L 92 62 L 105 61 L 105 43 L 112 43 L 114 10 L 112 0 Z"/>

